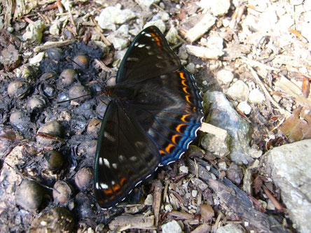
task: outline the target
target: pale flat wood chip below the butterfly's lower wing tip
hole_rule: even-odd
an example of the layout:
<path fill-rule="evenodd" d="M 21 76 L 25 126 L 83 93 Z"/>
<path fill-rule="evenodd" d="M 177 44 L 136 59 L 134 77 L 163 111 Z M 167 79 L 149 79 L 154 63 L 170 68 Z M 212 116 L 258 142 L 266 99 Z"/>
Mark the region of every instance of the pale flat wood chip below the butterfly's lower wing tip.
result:
<path fill-rule="evenodd" d="M 132 215 L 122 215 L 117 216 L 109 223 L 110 230 L 124 231 L 127 229 L 153 229 L 154 216 L 132 216 Z"/>

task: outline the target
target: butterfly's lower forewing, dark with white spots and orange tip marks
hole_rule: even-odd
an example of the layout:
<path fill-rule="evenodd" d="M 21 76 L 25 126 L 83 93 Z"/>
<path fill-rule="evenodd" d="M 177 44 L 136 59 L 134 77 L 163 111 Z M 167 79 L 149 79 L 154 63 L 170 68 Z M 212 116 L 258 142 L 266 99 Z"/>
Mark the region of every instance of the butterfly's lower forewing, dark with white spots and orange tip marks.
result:
<path fill-rule="evenodd" d="M 112 100 L 106 108 L 95 157 L 95 196 L 108 209 L 121 202 L 160 163 L 157 148 L 135 117 Z"/>

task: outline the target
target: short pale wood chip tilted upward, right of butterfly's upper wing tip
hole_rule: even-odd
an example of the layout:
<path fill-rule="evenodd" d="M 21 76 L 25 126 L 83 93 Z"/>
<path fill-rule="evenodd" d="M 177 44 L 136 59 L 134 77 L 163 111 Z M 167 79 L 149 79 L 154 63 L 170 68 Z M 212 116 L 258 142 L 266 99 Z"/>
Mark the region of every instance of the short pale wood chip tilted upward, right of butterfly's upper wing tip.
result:
<path fill-rule="evenodd" d="M 187 31 L 186 38 L 191 42 L 198 40 L 214 25 L 215 21 L 216 18 L 211 14 L 202 15 L 200 21 Z"/>

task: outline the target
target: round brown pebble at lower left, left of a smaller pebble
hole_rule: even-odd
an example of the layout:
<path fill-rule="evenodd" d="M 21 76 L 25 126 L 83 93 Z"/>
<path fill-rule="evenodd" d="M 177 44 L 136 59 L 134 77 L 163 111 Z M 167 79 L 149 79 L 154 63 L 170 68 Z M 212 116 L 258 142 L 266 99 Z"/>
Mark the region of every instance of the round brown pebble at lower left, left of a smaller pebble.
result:
<path fill-rule="evenodd" d="M 43 189 L 34 181 L 23 181 L 15 190 L 16 204 L 27 210 L 38 209 L 43 199 Z"/>

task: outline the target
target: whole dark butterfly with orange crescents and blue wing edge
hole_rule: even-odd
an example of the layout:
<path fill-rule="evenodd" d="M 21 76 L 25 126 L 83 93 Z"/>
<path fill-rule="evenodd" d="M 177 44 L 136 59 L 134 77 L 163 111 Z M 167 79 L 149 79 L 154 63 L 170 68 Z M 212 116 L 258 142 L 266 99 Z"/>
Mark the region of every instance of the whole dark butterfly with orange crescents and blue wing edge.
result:
<path fill-rule="evenodd" d="M 107 93 L 94 169 L 103 209 L 123 201 L 159 166 L 178 160 L 203 118 L 192 74 L 155 26 L 134 38 Z"/>

